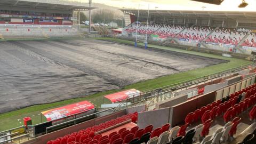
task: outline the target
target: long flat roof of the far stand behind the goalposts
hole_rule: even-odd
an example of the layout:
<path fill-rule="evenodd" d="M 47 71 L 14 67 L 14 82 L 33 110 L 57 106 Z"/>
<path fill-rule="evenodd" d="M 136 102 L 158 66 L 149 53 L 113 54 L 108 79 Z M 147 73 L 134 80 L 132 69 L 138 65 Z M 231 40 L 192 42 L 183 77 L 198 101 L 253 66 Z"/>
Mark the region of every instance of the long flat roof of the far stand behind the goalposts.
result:
<path fill-rule="evenodd" d="M 137 15 L 138 10 L 121 9 L 126 14 Z M 140 15 L 147 15 L 148 10 L 140 10 Z M 255 19 L 256 12 L 229 12 L 229 11 L 169 11 L 169 10 L 149 10 L 151 15 L 173 16 L 173 17 L 191 17 L 191 18 L 231 18 L 231 19 Z"/>

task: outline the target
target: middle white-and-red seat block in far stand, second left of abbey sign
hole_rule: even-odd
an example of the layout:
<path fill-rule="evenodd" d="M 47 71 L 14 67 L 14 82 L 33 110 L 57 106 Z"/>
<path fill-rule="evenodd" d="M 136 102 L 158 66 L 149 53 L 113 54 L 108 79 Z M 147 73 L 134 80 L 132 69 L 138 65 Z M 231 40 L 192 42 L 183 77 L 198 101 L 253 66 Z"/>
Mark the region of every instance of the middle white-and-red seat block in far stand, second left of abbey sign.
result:
<path fill-rule="evenodd" d="M 181 31 L 181 33 L 177 37 L 203 41 L 203 39 L 207 35 L 209 35 L 213 29 L 214 28 L 212 27 L 192 26 L 192 27 L 185 28 L 185 30 Z"/>

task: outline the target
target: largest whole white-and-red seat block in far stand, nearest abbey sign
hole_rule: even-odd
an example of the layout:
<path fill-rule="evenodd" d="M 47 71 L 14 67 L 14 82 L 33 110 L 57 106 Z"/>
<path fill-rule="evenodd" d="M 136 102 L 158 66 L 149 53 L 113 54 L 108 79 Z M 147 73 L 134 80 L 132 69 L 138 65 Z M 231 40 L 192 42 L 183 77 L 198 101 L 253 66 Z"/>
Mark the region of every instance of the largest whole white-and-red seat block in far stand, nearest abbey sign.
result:
<path fill-rule="evenodd" d="M 246 33 L 239 33 L 236 29 L 218 28 L 205 41 L 237 45 L 245 35 Z"/>

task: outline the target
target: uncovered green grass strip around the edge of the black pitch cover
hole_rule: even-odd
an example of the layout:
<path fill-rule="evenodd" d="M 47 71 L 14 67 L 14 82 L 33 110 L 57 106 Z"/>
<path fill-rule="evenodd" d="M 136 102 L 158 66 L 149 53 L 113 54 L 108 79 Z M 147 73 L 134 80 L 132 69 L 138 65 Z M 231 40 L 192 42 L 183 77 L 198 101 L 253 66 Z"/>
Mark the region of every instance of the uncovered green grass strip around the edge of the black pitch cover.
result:
<path fill-rule="evenodd" d="M 115 39 L 115 38 L 95 38 L 95 39 L 102 39 L 102 40 L 113 41 L 113 42 L 124 43 L 124 44 L 133 44 L 134 43 L 132 41 L 126 41 L 126 40 Z M 142 43 L 138 43 L 138 45 L 143 46 Z M 148 89 L 156 89 L 157 87 L 162 87 L 162 86 L 171 85 L 171 84 L 175 84 L 175 83 L 179 83 L 179 82 L 183 82 L 183 81 L 188 81 L 189 79 L 194 79 L 194 78 L 206 76 L 206 75 L 213 74 L 213 73 L 218 73 L 220 71 L 224 71 L 224 70 L 228 70 L 231 68 L 236 68 L 236 67 L 239 67 L 242 65 L 252 63 L 251 61 L 247 61 L 247 60 L 227 58 L 227 57 L 222 57 L 220 55 L 213 55 L 213 54 L 208 54 L 208 53 L 186 51 L 186 50 L 174 49 L 171 47 L 151 45 L 151 44 L 149 44 L 148 46 L 156 47 L 158 49 L 175 51 L 175 52 L 201 55 L 203 57 L 228 60 L 228 62 L 221 63 L 219 65 L 213 65 L 213 66 L 209 66 L 209 67 L 189 70 L 189 71 L 185 71 L 182 73 L 177 73 L 177 74 L 173 74 L 173 75 L 169 75 L 169 76 L 158 77 L 156 79 L 151 79 L 151 80 L 148 80 L 145 82 L 139 82 L 136 84 L 125 86 L 124 89 L 134 88 L 134 89 L 138 89 L 140 91 L 148 90 Z M 64 100 L 64 101 L 54 102 L 54 103 L 49 103 L 49 104 L 44 104 L 44 105 L 36 105 L 36 106 L 31 106 L 31 107 L 11 111 L 9 113 L 1 114 L 0 115 L 0 125 L 1 125 L 0 131 L 11 129 L 13 127 L 21 126 L 23 124 L 22 118 L 27 117 L 27 116 L 30 116 L 32 118 L 33 124 L 40 123 L 41 115 L 38 115 L 38 114 L 40 114 L 41 111 L 51 109 L 54 107 L 68 105 L 70 103 L 74 103 L 74 102 L 78 102 L 78 101 L 88 100 L 88 101 L 91 101 L 95 105 L 95 107 L 100 107 L 101 103 L 103 102 L 104 95 L 109 94 L 109 93 L 114 93 L 117 91 L 119 91 L 119 90 L 100 92 L 97 94 L 88 95 L 87 97 Z M 18 121 L 18 119 L 21 119 L 21 120 Z M 44 122 L 44 121 L 45 121 L 45 118 L 44 118 L 44 116 L 42 116 L 42 122 Z M 21 122 L 21 124 L 20 124 L 20 122 Z"/>

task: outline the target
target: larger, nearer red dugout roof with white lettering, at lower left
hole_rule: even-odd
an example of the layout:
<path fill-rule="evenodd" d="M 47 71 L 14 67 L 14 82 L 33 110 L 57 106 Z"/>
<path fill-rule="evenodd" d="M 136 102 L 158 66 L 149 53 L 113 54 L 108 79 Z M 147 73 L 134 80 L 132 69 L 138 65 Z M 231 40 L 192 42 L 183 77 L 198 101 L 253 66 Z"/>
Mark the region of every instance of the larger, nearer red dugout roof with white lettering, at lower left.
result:
<path fill-rule="evenodd" d="M 90 103 L 89 101 L 81 101 L 73 103 L 71 105 L 46 110 L 41 113 L 47 118 L 47 121 L 53 121 L 91 109 L 94 109 L 92 103 Z"/>

